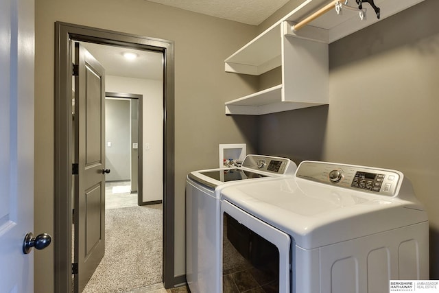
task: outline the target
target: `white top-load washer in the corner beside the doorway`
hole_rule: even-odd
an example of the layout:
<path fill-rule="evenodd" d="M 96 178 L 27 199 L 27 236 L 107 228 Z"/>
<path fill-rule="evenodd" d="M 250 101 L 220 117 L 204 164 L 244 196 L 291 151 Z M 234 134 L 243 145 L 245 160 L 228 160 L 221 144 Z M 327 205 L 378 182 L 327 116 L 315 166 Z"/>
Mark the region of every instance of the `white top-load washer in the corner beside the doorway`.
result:
<path fill-rule="evenodd" d="M 226 186 L 292 177 L 297 165 L 285 158 L 250 154 L 241 167 L 191 172 L 186 183 L 186 269 L 192 293 L 220 292 L 220 191 Z"/>

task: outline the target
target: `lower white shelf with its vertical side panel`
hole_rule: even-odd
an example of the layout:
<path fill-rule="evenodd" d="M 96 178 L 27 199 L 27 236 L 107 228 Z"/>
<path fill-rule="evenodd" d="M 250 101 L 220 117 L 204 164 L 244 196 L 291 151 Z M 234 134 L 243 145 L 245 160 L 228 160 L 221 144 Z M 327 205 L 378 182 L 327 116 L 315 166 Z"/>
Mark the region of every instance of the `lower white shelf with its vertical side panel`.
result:
<path fill-rule="evenodd" d="M 264 115 L 328 104 L 328 45 L 283 36 L 282 83 L 227 102 L 227 115 Z"/>

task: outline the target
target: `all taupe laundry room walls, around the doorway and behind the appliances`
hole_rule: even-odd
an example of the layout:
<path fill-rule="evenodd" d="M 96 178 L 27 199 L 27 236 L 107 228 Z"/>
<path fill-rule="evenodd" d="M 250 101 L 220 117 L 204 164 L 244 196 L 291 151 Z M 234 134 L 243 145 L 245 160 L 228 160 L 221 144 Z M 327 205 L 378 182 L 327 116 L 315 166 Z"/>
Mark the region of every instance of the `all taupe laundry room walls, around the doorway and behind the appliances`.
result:
<path fill-rule="evenodd" d="M 224 59 L 300 2 L 289 1 L 254 27 L 143 0 L 36 1 L 35 233 L 53 233 L 54 22 L 65 21 L 176 42 L 176 275 L 185 272 L 186 174 L 217 165 L 219 143 L 247 143 L 249 154 L 296 163 L 322 159 L 404 172 L 429 211 L 431 277 L 438 279 L 439 1 L 333 43 L 330 106 L 226 117 L 224 102 L 253 93 L 259 78 L 224 73 Z M 379 130 L 353 129 L 364 123 Z M 38 251 L 36 293 L 53 292 L 53 270 L 52 248 Z"/>

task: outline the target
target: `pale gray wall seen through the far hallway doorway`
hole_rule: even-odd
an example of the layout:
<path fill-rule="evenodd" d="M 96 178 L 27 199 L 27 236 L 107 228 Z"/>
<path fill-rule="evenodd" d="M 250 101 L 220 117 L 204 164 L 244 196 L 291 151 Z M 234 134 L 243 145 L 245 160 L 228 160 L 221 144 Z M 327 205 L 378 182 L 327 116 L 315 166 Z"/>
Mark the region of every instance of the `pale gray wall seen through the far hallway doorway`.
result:
<path fill-rule="evenodd" d="M 130 99 L 105 99 L 105 167 L 111 170 L 106 181 L 130 180 L 130 136 Z"/>

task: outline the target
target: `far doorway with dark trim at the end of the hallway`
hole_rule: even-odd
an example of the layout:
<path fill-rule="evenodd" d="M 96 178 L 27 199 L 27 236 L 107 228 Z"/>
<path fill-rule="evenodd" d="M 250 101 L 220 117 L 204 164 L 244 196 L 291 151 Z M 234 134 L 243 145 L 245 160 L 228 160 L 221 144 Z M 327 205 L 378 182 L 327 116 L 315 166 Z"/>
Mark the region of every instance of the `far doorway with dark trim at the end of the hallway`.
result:
<path fill-rule="evenodd" d="M 105 109 L 106 209 L 143 205 L 143 95 L 106 92 Z"/>

